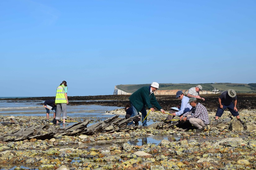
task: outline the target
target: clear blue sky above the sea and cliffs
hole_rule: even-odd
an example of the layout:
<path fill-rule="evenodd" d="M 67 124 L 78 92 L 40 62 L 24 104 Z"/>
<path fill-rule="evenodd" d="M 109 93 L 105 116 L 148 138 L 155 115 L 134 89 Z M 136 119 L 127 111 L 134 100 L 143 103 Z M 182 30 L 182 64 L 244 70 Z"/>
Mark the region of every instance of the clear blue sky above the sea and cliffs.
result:
<path fill-rule="evenodd" d="M 0 97 L 256 83 L 256 1 L 1 0 Z"/>

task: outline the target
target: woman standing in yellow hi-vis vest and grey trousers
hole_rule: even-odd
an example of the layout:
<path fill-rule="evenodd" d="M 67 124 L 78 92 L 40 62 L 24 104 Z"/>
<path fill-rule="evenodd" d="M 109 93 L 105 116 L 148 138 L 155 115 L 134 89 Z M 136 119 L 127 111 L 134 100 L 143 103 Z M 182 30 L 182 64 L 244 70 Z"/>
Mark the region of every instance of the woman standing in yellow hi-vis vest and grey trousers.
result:
<path fill-rule="evenodd" d="M 57 87 L 56 98 L 55 98 L 55 103 L 57 104 L 56 117 L 55 117 L 57 125 L 61 124 L 61 122 L 59 121 L 61 119 L 61 114 L 63 119 L 63 125 L 67 125 L 67 123 L 65 122 L 67 119 L 67 104 L 69 104 L 67 93 L 68 93 L 67 82 L 63 81 L 60 84 L 60 86 Z"/>

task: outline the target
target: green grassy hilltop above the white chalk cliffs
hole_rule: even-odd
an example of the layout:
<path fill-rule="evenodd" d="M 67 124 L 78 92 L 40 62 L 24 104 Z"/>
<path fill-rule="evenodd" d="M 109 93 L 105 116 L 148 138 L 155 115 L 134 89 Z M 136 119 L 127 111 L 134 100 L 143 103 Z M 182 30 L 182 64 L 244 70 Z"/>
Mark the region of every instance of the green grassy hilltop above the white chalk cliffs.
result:
<path fill-rule="evenodd" d="M 255 93 L 256 83 L 242 84 L 242 83 L 198 83 L 203 87 L 203 91 L 226 91 L 228 89 L 234 89 L 237 93 Z M 190 83 L 159 83 L 158 90 L 188 90 L 191 87 L 195 87 L 198 84 Z M 127 93 L 133 93 L 143 86 L 150 86 L 151 84 L 120 84 L 116 87 L 119 90 L 125 91 Z M 215 88 L 215 89 L 214 89 Z"/>

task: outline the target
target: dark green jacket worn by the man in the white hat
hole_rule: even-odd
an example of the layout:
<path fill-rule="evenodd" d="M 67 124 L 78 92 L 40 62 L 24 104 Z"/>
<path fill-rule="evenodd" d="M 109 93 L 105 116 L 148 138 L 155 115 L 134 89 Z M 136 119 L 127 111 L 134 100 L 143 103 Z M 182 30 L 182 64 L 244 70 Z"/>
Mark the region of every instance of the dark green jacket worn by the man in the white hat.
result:
<path fill-rule="evenodd" d="M 162 108 L 155 99 L 154 93 L 149 96 L 150 87 L 151 86 L 141 87 L 132 93 L 132 95 L 129 97 L 130 102 L 132 103 L 133 107 L 136 108 L 137 112 L 140 112 L 145 105 L 147 108 L 153 108 L 152 105 L 154 105 L 159 110 Z"/>

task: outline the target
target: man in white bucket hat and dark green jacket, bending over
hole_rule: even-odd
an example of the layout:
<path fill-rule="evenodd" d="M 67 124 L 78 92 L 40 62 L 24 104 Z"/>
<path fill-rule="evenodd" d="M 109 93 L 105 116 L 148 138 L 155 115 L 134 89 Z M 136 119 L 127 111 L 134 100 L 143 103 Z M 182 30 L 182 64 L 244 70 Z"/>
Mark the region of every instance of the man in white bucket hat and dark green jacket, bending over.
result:
<path fill-rule="evenodd" d="M 151 86 L 141 87 L 129 97 L 131 108 L 132 108 L 132 115 L 137 116 L 139 112 L 142 114 L 142 120 L 147 115 L 146 107 L 150 108 L 151 111 L 155 111 L 153 106 L 159 109 L 161 112 L 165 113 L 164 109 L 159 105 L 157 100 L 155 99 L 154 91 L 159 88 L 159 84 L 153 82 Z M 152 106 L 153 105 L 153 106 Z M 132 125 L 133 121 L 129 122 L 127 125 Z M 147 126 L 147 118 L 142 122 L 143 126 Z"/>

